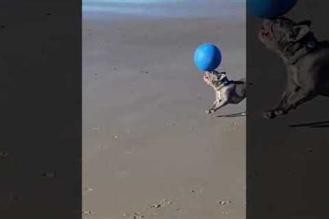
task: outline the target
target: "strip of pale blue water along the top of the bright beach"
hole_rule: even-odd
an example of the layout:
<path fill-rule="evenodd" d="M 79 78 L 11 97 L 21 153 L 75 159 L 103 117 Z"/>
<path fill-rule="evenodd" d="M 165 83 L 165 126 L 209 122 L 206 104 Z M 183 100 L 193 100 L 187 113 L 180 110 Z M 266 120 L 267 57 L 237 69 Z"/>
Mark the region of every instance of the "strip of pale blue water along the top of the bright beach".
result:
<path fill-rule="evenodd" d="M 84 17 L 155 16 L 155 17 L 217 17 L 241 16 L 246 0 L 83 0 Z"/>

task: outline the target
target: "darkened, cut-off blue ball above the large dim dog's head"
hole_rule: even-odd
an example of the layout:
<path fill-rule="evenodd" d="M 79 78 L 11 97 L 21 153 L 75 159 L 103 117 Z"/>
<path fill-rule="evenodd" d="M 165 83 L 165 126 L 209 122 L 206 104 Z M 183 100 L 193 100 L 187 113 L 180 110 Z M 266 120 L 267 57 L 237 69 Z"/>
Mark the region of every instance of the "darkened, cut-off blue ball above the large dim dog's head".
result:
<path fill-rule="evenodd" d="M 289 12 L 297 0 L 248 0 L 247 12 L 261 18 L 276 18 Z"/>

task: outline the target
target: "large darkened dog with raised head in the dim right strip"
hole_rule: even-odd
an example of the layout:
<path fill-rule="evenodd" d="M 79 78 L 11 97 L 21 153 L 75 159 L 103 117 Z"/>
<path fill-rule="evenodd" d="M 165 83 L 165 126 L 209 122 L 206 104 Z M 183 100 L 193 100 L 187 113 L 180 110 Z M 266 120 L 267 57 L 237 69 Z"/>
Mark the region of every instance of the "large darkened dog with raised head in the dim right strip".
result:
<path fill-rule="evenodd" d="M 264 113 L 265 118 L 288 114 L 317 95 L 329 96 L 329 42 L 318 41 L 310 24 L 281 17 L 265 19 L 260 27 L 260 42 L 282 57 L 287 71 L 281 101 Z"/>

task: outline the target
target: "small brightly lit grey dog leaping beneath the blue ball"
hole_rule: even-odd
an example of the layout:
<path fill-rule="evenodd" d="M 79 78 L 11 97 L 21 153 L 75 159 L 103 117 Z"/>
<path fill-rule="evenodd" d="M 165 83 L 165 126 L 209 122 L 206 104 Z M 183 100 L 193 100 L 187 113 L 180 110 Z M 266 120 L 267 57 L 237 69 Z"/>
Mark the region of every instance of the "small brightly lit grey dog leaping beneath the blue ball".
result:
<path fill-rule="evenodd" d="M 245 79 L 231 81 L 226 77 L 225 72 L 211 70 L 204 73 L 204 81 L 215 90 L 216 94 L 215 102 L 210 110 L 206 110 L 206 114 L 212 114 L 228 104 L 238 104 L 246 97 Z"/>

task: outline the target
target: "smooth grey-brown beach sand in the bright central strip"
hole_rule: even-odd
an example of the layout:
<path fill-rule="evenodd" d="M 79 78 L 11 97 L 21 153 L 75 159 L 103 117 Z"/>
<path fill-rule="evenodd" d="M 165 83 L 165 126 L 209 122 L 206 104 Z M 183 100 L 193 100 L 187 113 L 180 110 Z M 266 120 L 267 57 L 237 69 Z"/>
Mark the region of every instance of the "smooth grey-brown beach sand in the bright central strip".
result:
<path fill-rule="evenodd" d="M 213 42 L 244 77 L 244 40 L 243 16 L 84 19 L 85 218 L 245 218 L 245 118 L 204 113 L 215 94 L 193 65 Z"/>

